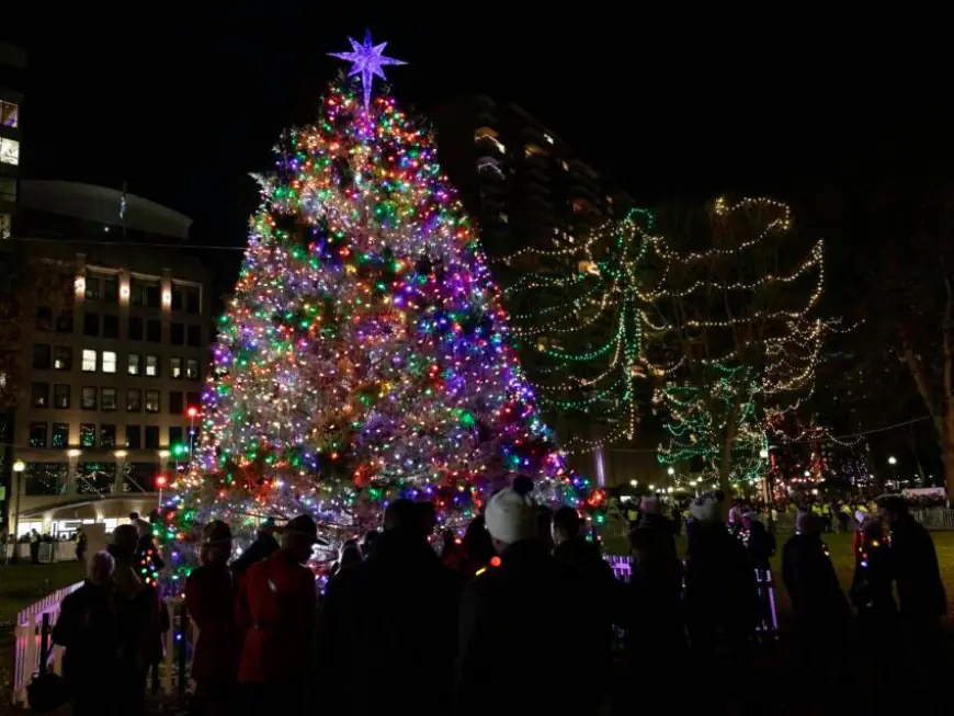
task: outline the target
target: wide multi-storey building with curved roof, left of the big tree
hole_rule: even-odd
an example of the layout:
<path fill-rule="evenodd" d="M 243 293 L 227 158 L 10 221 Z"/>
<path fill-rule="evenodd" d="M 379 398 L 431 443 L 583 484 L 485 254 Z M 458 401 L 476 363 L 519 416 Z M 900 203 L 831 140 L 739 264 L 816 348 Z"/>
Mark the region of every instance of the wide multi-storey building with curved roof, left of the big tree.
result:
<path fill-rule="evenodd" d="M 191 219 L 139 196 L 20 182 L 8 250 L 24 317 L 5 501 L 55 536 L 150 512 L 194 444 L 212 332 Z M 0 261 L 2 261 L 0 257 Z"/>

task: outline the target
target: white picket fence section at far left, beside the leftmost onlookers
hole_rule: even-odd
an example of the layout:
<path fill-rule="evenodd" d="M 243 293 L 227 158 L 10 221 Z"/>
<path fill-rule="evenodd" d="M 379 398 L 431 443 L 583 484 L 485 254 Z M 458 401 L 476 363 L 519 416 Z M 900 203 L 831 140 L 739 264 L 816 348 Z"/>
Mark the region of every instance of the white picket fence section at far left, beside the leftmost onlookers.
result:
<path fill-rule="evenodd" d="M 59 609 L 63 600 L 75 592 L 82 582 L 70 584 L 47 594 L 16 615 L 16 625 L 13 627 L 13 636 L 16 643 L 13 655 L 13 697 L 19 703 L 26 705 L 26 686 L 33 679 L 33 674 L 52 663 L 54 673 L 60 673 L 63 649 L 52 646 L 53 626 L 59 617 Z"/>

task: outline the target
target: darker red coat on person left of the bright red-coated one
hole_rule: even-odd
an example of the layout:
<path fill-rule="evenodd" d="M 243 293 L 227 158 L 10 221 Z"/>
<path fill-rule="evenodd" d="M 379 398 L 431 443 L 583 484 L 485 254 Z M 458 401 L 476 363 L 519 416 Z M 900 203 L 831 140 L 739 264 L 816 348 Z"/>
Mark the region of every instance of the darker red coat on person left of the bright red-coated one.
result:
<path fill-rule="evenodd" d="M 228 567 L 198 567 L 185 580 L 185 606 L 198 627 L 192 657 L 196 681 L 230 681 L 238 673 L 241 638 L 235 603 L 235 580 Z"/>

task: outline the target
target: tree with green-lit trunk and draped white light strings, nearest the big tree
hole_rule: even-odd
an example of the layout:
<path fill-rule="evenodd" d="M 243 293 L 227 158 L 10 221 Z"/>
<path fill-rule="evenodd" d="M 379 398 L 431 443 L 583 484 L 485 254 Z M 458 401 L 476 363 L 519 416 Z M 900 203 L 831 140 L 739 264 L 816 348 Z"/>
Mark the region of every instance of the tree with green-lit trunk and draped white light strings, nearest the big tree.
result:
<path fill-rule="evenodd" d="M 633 440 L 640 411 L 651 396 L 647 378 L 670 370 L 650 361 L 647 344 L 655 331 L 648 325 L 640 292 L 659 277 L 661 262 L 655 247 L 654 215 L 634 209 L 621 221 L 591 231 L 577 246 L 557 250 L 524 248 L 498 259 L 510 263 L 533 253 L 547 273 L 525 274 L 507 289 L 518 304 L 533 310 L 513 316 L 513 333 L 534 341 L 533 387 L 543 407 L 580 412 L 604 422 L 604 435 L 569 435 L 568 453 L 599 448 L 617 440 Z M 554 264 L 569 265 L 568 275 L 549 275 Z M 541 287 L 557 286 L 549 303 Z M 526 298 L 521 300 L 521 298 Z M 645 400 L 643 400 L 645 398 Z"/>

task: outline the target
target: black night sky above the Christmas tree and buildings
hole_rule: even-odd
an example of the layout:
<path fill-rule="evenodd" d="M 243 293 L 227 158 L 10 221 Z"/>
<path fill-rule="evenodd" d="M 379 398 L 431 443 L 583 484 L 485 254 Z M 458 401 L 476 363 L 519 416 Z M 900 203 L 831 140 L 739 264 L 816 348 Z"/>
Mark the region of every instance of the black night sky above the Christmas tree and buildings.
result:
<path fill-rule="evenodd" d="M 950 173 L 954 157 L 942 48 L 902 47 L 852 18 L 759 26 L 600 2 L 590 16 L 550 5 L 532 18 L 447 3 L 421 23 L 314 0 L 209 1 L 200 14 L 167 2 L 141 15 L 135 3 L 69 4 L 22 3 L 32 16 L 0 26 L 30 50 L 24 175 L 125 179 L 193 217 L 201 243 L 243 245 L 257 201 L 247 173 L 270 166 L 283 127 L 314 117 L 341 67 L 325 53 L 365 27 L 410 62 L 388 69 L 399 101 L 515 101 L 646 204 L 841 196 Z"/>

